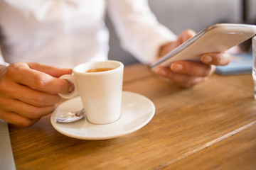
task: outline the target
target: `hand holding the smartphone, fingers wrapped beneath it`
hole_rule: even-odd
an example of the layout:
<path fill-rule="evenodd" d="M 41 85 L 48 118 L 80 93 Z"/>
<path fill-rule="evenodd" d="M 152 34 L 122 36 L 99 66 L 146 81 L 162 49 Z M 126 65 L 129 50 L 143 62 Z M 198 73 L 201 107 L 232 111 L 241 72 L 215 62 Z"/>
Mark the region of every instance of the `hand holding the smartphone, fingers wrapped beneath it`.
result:
<path fill-rule="evenodd" d="M 185 30 L 178 35 L 175 42 L 163 45 L 159 50 L 159 58 L 174 50 L 186 40 L 192 38 L 196 33 L 193 30 Z M 179 86 L 191 87 L 206 81 L 215 71 L 216 65 L 226 65 L 230 62 L 230 55 L 225 52 L 214 52 L 204 54 L 201 62 L 176 61 L 170 67 L 157 67 L 156 74 L 169 79 Z"/>

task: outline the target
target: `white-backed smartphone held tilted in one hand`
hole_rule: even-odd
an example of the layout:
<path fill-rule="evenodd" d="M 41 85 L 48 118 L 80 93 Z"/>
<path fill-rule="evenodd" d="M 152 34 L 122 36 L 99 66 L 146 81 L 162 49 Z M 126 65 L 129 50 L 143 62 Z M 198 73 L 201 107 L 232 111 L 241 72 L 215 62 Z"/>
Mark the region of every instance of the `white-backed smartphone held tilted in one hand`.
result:
<path fill-rule="evenodd" d="M 171 62 L 177 60 L 201 61 L 203 54 L 225 52 L 231 47 L 252 38 L 255 34 L 255 25 L 218 23 L 209 26 L 151 64 L 151 69 L 154 70 L 157 66 L 169 67 Z"/>

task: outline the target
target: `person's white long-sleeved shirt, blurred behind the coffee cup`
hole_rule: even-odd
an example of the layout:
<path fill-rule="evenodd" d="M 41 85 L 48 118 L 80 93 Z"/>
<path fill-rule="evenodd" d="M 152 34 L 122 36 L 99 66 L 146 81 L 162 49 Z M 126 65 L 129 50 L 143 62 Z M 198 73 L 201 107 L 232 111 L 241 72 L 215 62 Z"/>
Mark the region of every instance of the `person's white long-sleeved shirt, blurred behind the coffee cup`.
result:
<path fill-rule="evenodd" d="M 156 20 L 146 0 L 0 0 L 0 62 L 70 67 L 107 60 L 109 13 L 121 45 L 145 64 L 176 35 Z"/>

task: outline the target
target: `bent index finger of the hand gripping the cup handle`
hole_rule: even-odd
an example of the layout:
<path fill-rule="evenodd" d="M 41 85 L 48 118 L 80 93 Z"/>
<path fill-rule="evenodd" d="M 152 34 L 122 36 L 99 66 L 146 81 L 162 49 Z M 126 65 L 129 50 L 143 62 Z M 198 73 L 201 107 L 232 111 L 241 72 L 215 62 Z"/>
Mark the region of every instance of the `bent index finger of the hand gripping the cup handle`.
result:
<path fill-rule="evenodd" d="M 11 64 L 8 74 L 19 84 L 30 86 L 39 91 L 62 94 L 70 92 L 70 83 L 68 81 L 31 69 L 23 63 Z"/>

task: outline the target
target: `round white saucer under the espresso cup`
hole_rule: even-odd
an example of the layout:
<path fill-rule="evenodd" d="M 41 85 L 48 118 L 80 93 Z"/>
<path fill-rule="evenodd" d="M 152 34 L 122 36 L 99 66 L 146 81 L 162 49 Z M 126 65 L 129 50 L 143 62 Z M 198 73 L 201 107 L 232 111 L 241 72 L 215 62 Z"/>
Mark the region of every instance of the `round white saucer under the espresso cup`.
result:
<path fill-rule="evenodd" d="M 80 97 L 72 98 L 60 104 L 51 115 L 53 128 L 68 137 L 81 140 L 107 140 L 144 127 L 155 113 L 155 106 L 149 98 L 128 91 L 122 93 L 122 111 L 119 120 L 106 125 L 95 125 L 86 119 L 74 123 L 57 123 L 55 118 L 59 111 L 78 111 L 82 108 Z"/>

